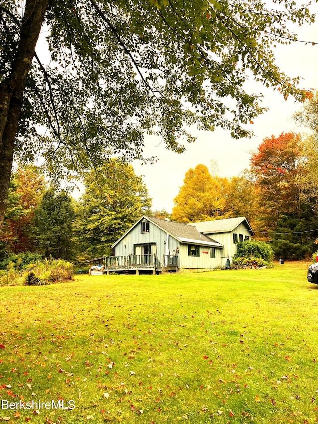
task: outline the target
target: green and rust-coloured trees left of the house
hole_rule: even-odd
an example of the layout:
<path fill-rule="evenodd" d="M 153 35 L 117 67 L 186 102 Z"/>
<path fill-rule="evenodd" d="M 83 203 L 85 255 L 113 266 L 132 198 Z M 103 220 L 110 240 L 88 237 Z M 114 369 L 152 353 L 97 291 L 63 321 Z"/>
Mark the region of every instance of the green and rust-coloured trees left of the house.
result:
<path fill-rule="evenodd" d="M 142 178 L 120 160 L 87 172 L 83 182 L 84 194 L 75 200 L 48 186 L 35 166 L 18 168 L 10 182 L 0 261 L 36 252 L 85 264 L 110 255 L 111 244 L 150 210 Z"/>

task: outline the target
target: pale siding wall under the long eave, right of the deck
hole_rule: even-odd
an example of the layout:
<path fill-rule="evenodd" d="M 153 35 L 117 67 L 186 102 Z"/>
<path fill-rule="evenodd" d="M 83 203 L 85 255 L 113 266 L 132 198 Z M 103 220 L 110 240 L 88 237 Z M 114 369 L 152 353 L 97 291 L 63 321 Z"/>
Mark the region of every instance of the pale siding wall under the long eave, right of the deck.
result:
<path fill-rule="evenodd" d="M 180 268 L 182 269 L 216 269 L 225 266 L 222 264 L 222 249 L 215 248 L 215 258 L 210 257 L 210 247 L 200 246 L 200 256 L 188 255 L 188 244 L 180 244 Z M 208 253 L 203 253 L 208 252 Z"/>

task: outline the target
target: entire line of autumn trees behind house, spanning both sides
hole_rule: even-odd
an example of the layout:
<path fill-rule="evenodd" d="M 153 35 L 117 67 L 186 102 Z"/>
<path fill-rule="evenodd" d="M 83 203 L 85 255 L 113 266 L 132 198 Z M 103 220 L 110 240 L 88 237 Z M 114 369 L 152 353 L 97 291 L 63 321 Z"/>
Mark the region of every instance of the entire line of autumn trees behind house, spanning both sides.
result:
<path fill-rule="evenodd" d="M 10 181 L 0 260 L 30 251 L 84 264 L 112 254 L 114 241 L 143 214 L 184 223 L 245 216 L 277 257 L 304 258 L 318 236 L 317 105 L 315 93 L 295 114 L 310 134 L 265 138 L 239 176 L 220 177 L 203 164 L 190 168 L 171 214 L 151 210 L 142 177 L 118 158 L 86 172 L 78 200 L 48 186 L 35 166 L 21 166 Z"/>

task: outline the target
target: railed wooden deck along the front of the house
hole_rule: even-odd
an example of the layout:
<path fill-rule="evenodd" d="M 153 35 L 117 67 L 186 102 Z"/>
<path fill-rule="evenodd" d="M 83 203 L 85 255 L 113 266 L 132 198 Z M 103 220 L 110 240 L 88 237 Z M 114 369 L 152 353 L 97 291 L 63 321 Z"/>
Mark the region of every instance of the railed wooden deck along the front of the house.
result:
<path fill-rule="evenodd" d="M 90 275 L 109 275 L 111 272 L 136 273 L 150 272 L 159 274 L 177 271 L 177 256 L 163 256 L 162 261 L 156 254 L 134 254 L 127 256 L 103 256 L 91 259 Z"/>

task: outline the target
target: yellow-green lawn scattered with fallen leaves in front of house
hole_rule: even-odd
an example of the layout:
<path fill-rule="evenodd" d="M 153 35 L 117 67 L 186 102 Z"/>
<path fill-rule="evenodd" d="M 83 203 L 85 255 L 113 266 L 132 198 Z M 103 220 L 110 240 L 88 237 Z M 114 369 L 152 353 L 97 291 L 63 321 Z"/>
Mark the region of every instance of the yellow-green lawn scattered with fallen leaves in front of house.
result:
<path fill-rule="evenodd" d="M 0 287 L 1 405 L 74 401 L 11 405 L 0 418 L 315 423 L 318 286 L 308 264 Z"/>

